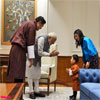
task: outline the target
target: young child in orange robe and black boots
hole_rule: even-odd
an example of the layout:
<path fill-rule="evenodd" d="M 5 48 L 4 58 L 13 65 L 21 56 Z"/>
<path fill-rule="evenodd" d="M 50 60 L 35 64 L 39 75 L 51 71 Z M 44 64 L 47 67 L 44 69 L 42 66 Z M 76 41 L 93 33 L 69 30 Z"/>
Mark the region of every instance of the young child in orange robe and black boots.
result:
<path fill-rule="evenodd" d="M 72 55 L 71 57 L 71 68 L 66 69 L 66 72 L 69 73 L 69 75 L 72 78 L 72 90 L 73 90 L 73 95 L 70 96 L 70 100 L 76 100 L 77 96 L 77 91 L 80 90 L 80 81 L 78 78 L 78 71 L 79 71 L 79 66 L 77 65 L 78 62 L 78 55 Z"/>

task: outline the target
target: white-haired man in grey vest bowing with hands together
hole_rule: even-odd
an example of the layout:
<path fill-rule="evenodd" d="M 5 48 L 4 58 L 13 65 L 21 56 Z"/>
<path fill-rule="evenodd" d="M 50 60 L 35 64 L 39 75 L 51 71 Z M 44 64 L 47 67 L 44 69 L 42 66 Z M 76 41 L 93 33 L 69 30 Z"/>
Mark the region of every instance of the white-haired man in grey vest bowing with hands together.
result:
<path fill-rule="evenodd" d="M 58 51 L 54 50 L 49 53 L 49 48 L 51 44 L 54 44 L 56 41 L 56 33 L 51 32 L 48 35 L 39 36 L 36 39 L 34 46 L 35 59 L 34 64 L 29 68 L 29 61 L 26 63 L 26 77 L 28 77 L 29 98 L 35 99 L 36 97 L 45 97 L 43 93 L 39 92 L 39 79 L 41 76 L 41 57 L 42 56 L 57 56 Z M 33 81 L 34 81 L 34 91 L 33 91 Z"/>

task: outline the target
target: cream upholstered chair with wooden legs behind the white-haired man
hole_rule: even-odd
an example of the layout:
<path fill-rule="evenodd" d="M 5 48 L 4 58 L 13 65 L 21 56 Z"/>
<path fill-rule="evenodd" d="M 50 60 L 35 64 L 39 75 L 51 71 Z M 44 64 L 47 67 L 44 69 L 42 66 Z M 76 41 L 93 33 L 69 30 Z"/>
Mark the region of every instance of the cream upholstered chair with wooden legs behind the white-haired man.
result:
<path fill-rule="evenodd" d="M 50 52 L 57 50 L 57 44 L 50 46 Z M 47 84 L 47 95 L 49 95 L 50 83 L 54 83 L 54 91 L 56 91 L 57 79 L 57 56 L 42 57 L 41 59 L 41 78 L 40 83 Z"/>

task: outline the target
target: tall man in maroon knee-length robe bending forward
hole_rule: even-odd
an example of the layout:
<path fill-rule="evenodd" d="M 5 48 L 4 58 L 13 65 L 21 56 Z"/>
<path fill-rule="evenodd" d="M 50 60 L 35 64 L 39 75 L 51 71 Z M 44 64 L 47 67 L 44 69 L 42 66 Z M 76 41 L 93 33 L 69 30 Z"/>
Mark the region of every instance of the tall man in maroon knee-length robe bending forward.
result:
<path fill-rule="evenodd" d="M 28 52 L 29 66 L 33 64 L 34 44 L 36 31 L 46 23 L 42 16 L 34 20 L 24 22 L 11 38 L 11 50 L 7 75 L 14 79 L 15 83 L 23 82 L 26 70 L 26 52 Z"/>

